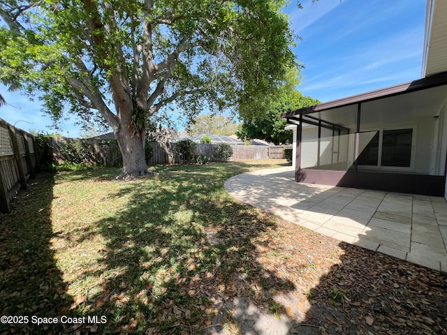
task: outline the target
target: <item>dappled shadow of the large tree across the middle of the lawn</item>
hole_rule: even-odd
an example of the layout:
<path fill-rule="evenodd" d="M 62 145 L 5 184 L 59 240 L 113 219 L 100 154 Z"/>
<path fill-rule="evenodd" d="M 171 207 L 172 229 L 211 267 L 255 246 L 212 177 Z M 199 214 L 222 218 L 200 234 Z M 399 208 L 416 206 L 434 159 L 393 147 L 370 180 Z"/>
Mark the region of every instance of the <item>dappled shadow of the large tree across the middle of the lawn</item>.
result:
<path fill-rule="evenodd" d="M 200 334 L 216 320 L 241 329 L 226 311 L 237 297 L 254 301 L 254 313 L 275 313 L 272 297 L 293 290 L 258 262 L 257 246 L 276 219 L 229 197 L 226 177 L 210 173 L 228 174 L 224 166 L 197 169 L 161 172 L 110 195 L 129 201 L 117 216 L 94 223 L 105 248 L 96 269 L 78 276 L 101 280 L 84 306 L 107 318 L 98 331 Z"/>

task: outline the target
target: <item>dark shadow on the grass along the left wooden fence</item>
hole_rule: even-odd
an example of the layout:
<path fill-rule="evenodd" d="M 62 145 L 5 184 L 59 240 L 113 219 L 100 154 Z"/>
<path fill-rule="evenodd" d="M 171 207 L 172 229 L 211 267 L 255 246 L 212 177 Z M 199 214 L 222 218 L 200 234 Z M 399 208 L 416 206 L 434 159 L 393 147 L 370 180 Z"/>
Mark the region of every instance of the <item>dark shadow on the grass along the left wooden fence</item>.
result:
<path fill-rule="evenodd" d="M 69 327 L 32 319 L 67 314 L 73 303 L 50 246 L 53 186 L 52 174 L 38 174 L 11 203 L 11 213 L 0 214 L 0 314 L 11 317 L 1 322 L 1 334 L 59 334 Z"/>

